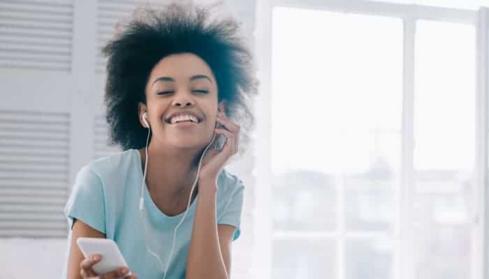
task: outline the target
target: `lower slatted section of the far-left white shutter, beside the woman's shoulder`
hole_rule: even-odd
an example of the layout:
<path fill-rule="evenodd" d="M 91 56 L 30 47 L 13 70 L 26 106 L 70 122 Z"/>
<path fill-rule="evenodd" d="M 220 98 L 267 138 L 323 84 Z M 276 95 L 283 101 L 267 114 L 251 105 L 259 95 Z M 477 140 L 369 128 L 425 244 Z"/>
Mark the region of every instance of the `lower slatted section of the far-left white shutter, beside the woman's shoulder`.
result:
<path fill-rule="evenodd" d="M 66 236 L 66 113 L 0 111 L 0 236 Z"/>

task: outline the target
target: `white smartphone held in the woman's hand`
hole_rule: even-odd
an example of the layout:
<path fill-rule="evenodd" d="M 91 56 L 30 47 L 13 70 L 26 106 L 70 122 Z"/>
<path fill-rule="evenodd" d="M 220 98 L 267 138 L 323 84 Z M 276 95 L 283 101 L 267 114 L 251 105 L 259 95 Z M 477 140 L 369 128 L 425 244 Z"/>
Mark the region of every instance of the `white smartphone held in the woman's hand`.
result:
<path fill-rule="evenodd" d="M 101 239 L 98 237 L 79 237 L 76 240 L 78 247 L 82 251 L 84 257 L 89 257 L 93 254 L 99 254 L 102 256 L 100 262 L 94 264 L 92 269 L 98 274 L 102 275 L 109 271 L 119 269 L 122 266 L 127 266 L 122 253 L 117 247 L 117 244 L 112 239 Z M 129 268 L 129 266 L 127 266 Z M 129 268 L 130 269 L 130 268 Z M 129 271 L 125 276 L 119 277 L 119 279 L 131 276 Z"/>

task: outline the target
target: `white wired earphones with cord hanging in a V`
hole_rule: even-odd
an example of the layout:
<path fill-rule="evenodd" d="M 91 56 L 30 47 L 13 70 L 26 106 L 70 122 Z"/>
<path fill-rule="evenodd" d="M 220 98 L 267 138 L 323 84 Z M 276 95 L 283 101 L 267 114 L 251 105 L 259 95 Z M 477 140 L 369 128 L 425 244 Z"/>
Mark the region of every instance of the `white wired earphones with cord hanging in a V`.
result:
<path fill-rule="evenodd" d="M 149 123 L 147 123 L 147 112 L 143 113 L 143 122 L 145 123 L 145 127 L 148 128 L 148 133 L 147 133 L 146 148 L 145 148 L 146 149 L 145 173 L 143 175 L 143 183 L 141 184 L 141 195 L 140 195 L 140 199 L 139 199 L 139 211 L 140 211 L 140 216 L 141 216 L 141 219 L 143 220 L 144 227 L 145 227 L 144 229 L 145 229 L 145 243 L 146 243 L 147 226 L 146 226 L 146 218 L 144 217 L 144 215 L 145 215 L 144 186 L 145 186 L 145 181 L 146 181 L 147 158 L 148 158 L 148 155 L 147 155 L 147 144 L 149 142 L 149 133 L 151 133 L 151 128 L 149 127 Z M 149 253 L 151 253 L 152 255 L 154 255 L 154 257 L 156 257 L 156 259 L 158 259 L 158 262 L 161 265 L 161 269 L 163 270 L 163 279 L 166 278 L 166 273 L 168 272 L 168 266 L 170 266 L 170 260 L 171 260 L 171 257 L 173 255 L 173 249 L 175 248 L 175 241 L 177 239 L 177 229 L 178 229 L 178 227 L 180 227 L 180 225 L 182 225 L 185 217 L 187 216 L 187 211 L 189 210 L 189 207 L 190 207 L 191 197 L 192 197 L 192 194 L 194 193 L 194 188 L 195 188 L 195 186 L 197 184 L 198 176 L 200 174 L 200 165 L 202 164 L 202 159 L 204 158 L 205 152 L 207 151 L 207 149 L 209 148 L 209 146 L 212 144 L 212 142 L 214 141 L 214 138 L 215 137 L 216 137 L 216 133 L 214 133 L 214 135 L 212 136 L 212 140 L 210 140 L 210 142 L 207 144 L 207 146 L 205 146 L 205 149 L 204 149 L 202 155 L 200 156 L 200 161 L 198 163 L 198 169 L 197 169 L 197 176 L 196 176 L 196 179 L 194 181 L 194 185 L 192 186 L 192 188 L 190 190 L 190 196 L 189 196 L 189 202 L 187 203 L 187 209 L 185 209 L 185 213 L 184 213 L 184 216 L 182 217 L 182 220 L 180 220 L 180 223 L 178 223 L 178 225 L 175 227 L 175 231 L 173 232 L 173 244 L 172 244 L 172 247 L 171 247 L 171 250 L 170 250 L 170 255 L 168 255 L 168 261 L 166 262 L 166 268 L 165 269 L 163 269 L 163 262 L 161 262 L 161 259 L 158 257 L 158 255 L 156 255 L 155 252 L 153 252 L 152 250 L 149 249 L 149 246 L 146 243 L 146 249 L 147 249 L 147 251 Z"/>

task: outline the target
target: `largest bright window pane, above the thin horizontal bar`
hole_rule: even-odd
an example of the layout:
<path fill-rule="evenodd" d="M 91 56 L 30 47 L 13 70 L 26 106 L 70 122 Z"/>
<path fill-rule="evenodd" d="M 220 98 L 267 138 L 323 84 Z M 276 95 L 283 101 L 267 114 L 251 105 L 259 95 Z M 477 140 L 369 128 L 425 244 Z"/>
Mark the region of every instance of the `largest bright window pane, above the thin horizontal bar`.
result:
<path fill-rule="evenodd" d="M 337 229 L 338 189 L 347 229 L 392 229 L 402 30 L 391 17 L 274 8 L 274 229 Z"/>

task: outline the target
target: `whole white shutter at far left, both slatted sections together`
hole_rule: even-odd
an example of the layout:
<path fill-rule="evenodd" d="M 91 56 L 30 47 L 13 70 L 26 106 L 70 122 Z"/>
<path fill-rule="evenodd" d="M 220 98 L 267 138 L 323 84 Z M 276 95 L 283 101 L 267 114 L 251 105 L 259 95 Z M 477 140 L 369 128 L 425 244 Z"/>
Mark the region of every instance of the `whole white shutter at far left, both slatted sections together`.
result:
<path fill-rule="evenodd" d="M 0 0 L 0 237 L 66 237 L 73 0 Z"/>

